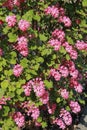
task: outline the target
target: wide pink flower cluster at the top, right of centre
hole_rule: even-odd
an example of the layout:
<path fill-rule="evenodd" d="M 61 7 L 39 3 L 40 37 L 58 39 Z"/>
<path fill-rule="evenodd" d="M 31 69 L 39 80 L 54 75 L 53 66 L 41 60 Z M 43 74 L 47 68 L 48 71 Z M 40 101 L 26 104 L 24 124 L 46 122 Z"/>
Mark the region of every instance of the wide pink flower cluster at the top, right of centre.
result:
<path fill-rule="evenodd" d="M 59 16 L 59 10 L 56 6 L 48 6 L 44 11 L 46 15 L 52 15 L 54 18 L 58 18 Z"/>

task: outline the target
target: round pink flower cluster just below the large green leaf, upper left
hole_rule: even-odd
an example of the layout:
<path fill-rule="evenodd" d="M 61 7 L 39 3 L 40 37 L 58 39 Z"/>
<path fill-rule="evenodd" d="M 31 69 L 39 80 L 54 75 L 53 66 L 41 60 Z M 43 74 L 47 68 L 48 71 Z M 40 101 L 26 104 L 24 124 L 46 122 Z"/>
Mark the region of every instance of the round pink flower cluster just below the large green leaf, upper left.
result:
<path fill-rule="evenodd" d="M 30 23 L 21 19 L 18 23 L 18 27 L 21 31 L 26 31 L 30 27 Z"/>

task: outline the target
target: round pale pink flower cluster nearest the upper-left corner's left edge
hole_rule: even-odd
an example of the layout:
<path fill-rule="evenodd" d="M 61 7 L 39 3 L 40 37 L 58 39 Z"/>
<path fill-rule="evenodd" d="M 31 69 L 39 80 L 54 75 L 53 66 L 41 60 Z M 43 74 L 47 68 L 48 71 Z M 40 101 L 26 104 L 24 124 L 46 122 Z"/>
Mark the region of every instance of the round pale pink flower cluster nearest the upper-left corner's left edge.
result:
<path fill-rule="evenodd" d="M 9 27 L 15 26 L 15 24 L 17 22 L 16 16 L 15 15 L 12 15 L 12 16 L 9 15 L 9 16 L 7 16 L 6 17 L 6 22 L 8 23 Z"/>

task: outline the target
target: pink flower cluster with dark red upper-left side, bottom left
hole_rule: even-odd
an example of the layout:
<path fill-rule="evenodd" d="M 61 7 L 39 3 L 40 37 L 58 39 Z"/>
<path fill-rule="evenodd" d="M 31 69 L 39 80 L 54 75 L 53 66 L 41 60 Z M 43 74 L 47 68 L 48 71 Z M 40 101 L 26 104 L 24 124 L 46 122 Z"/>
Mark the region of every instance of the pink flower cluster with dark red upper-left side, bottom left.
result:
<path fill-rule="evenodd" d="M 21 112 L 16 112 L 13 115 L 13 120 L 15 121 L 15 123 L 18 125 L 18 127 L 23 127 L 25 124 L 25 118 L 24 116 L 21 114 Z"/>

